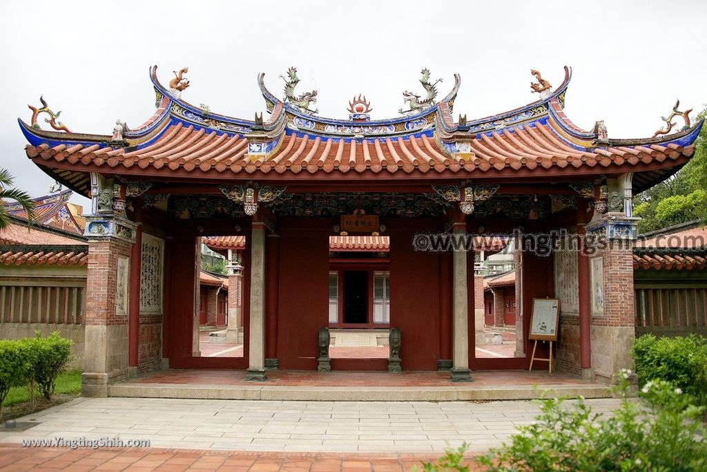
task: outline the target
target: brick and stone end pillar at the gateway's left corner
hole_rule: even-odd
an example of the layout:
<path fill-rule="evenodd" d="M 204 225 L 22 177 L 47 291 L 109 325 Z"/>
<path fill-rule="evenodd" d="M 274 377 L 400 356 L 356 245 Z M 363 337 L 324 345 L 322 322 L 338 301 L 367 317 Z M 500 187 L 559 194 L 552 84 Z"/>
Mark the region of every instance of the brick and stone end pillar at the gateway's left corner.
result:
<path fill-rule="evenodd" d="M 86 217 L 88 270 L 83 396 L 107 396 L 127 378 L 130 255 L 135 227 L 112 214 Z"/>

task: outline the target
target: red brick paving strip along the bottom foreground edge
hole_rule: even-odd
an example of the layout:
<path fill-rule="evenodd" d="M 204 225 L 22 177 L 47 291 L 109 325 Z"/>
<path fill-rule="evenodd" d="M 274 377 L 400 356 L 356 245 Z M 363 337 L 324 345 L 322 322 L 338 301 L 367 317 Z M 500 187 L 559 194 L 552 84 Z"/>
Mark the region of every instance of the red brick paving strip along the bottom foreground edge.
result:
<path fill-rule="evenodd" d="M 60 449 L 0 445 L 0 470 L 21 471 L 409 471 L 437 456 L 327 454 L 183 449 Z M 484 470 L 467 456 L 470 471 Z"/>

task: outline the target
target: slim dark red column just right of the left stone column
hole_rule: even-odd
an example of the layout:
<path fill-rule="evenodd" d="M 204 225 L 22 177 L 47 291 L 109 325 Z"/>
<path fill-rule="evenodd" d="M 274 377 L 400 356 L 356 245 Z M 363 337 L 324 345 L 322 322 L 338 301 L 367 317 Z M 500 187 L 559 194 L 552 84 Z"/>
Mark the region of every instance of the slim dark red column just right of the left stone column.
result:
<path fill-rule="evenodd" d="M 267 235 L 265 251 L 265 368 L 277 369 L 277 312 L 280 267 L 280 235 Z"/>

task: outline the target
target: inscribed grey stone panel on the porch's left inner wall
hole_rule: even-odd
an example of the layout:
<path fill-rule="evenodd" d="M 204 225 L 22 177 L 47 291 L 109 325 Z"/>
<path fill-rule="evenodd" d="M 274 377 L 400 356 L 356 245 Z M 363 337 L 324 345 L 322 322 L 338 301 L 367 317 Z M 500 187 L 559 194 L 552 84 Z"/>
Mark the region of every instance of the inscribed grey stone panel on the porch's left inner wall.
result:
<path fill-rule="evenodd" d="M 142 235 L 140 258 L 140 313 L 162 313 L 162 284 L 165 242 L 149 234 Z"/>

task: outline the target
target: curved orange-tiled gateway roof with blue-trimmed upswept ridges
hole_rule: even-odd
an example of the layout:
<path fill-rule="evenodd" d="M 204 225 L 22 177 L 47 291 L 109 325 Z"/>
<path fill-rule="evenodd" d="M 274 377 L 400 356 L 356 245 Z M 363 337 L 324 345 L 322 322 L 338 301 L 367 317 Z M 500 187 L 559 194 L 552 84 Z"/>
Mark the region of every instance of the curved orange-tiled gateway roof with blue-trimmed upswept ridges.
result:
<path fill-rule="evenodd" d="M 258 125 L 189 105 L 161 86 L 152 69 L 158 108 L 124 133 L 127 146 L 110 136 L 45 131 L 24 122 L 21 129 L 30 142 L 28 157 L 83 193 L 86 176 L 78 174 L 89 171 L 305 180 L 650 175 L 636 175 L 640 191 L 694 153 L 702 122 L 676 134 L 634 140 L 598 139 L 574 125 L 563 112 L 570 76 L 567 69 L 561 86 L 541 100 L 461 124 L 451 117 L 458 76 L 452 92 L 432 108 L 364 125 L 301 113 L 262 86 L 271 117 Z"/>

